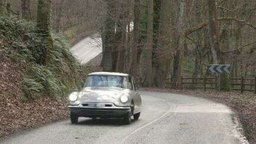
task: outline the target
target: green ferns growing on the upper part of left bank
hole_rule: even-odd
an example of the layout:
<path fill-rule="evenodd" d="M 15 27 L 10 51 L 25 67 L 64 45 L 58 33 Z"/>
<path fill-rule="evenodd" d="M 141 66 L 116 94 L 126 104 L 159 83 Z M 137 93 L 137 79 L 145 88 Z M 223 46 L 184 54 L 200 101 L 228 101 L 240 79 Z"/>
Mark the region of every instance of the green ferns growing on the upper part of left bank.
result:
<path fill-rule="evenodd" d="M 40 65 L 44 47 L 43 36 L 36 25 L 15 17 L 0 17 L 0 55 L 21 63 L 22 101 L 39 96 L 65 97 L 73 88 L 84 85 L 88 69 L 79 64 L 66 38 L 52 32 L 53 49 L 48 53 L 50 62 Z"/>

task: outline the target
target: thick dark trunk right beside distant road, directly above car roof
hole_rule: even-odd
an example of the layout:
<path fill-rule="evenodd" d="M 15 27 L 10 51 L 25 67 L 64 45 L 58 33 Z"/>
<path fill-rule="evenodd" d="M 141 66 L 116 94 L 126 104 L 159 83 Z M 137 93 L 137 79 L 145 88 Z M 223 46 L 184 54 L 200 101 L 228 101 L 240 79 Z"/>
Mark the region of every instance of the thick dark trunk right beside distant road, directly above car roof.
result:
<path fill-rule="evenodd" d="M 107 4 L 107 14 L 104 22 L 104 49 L 103 49 L 103 71 L 114 72 L 115 71 L 115 21 L 113 16 L 115 15 L 115 5 L 112 0 L 105 0 Z"/>

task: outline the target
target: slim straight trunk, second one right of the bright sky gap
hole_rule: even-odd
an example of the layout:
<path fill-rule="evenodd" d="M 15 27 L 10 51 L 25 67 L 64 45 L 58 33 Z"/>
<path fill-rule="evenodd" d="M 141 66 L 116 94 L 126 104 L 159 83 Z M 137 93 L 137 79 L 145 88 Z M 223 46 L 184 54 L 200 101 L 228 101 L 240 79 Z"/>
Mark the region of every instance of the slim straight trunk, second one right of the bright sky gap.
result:
<path fill-rule="evenodd" d="M 146 47 L 146 86 L 152 86 L 152 46 L 153 46 L 153 0 L 148 0 L 148 29 Z"/>

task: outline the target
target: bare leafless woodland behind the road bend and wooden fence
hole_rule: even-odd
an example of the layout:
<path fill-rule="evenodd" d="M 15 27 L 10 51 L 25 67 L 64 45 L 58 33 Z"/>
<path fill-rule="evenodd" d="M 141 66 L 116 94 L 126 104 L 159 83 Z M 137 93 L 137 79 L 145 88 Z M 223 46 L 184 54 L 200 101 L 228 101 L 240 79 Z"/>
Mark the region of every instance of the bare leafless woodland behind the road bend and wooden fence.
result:
<path fill-rule="evenodd" d="M 52 30 L 101 34 L 104 71 L 132 73 L 156 87 L 166 78 L 179 87 L 181 76 L 211 75 L 213 63 L 232 65 L 232 77 L 255 76 L 255 0 L 43 2 L 51 5 Z M 2 12 L 38 19 L 36 0 L 1 4 L 7 6 Z"/>

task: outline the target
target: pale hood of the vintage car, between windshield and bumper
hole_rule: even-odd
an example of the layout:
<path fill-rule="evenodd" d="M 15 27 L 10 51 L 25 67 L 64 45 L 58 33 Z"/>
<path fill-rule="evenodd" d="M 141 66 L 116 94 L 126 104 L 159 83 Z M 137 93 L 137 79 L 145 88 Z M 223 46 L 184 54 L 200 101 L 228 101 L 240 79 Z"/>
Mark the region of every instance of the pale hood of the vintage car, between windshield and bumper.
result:
<path fill-rule="evenodd" d="M 121 95 L 129 94 L 129 89 L 108 87 L 87 87 L 79 92 L 80 103 L 114 103 L 120 104 Z"/>

